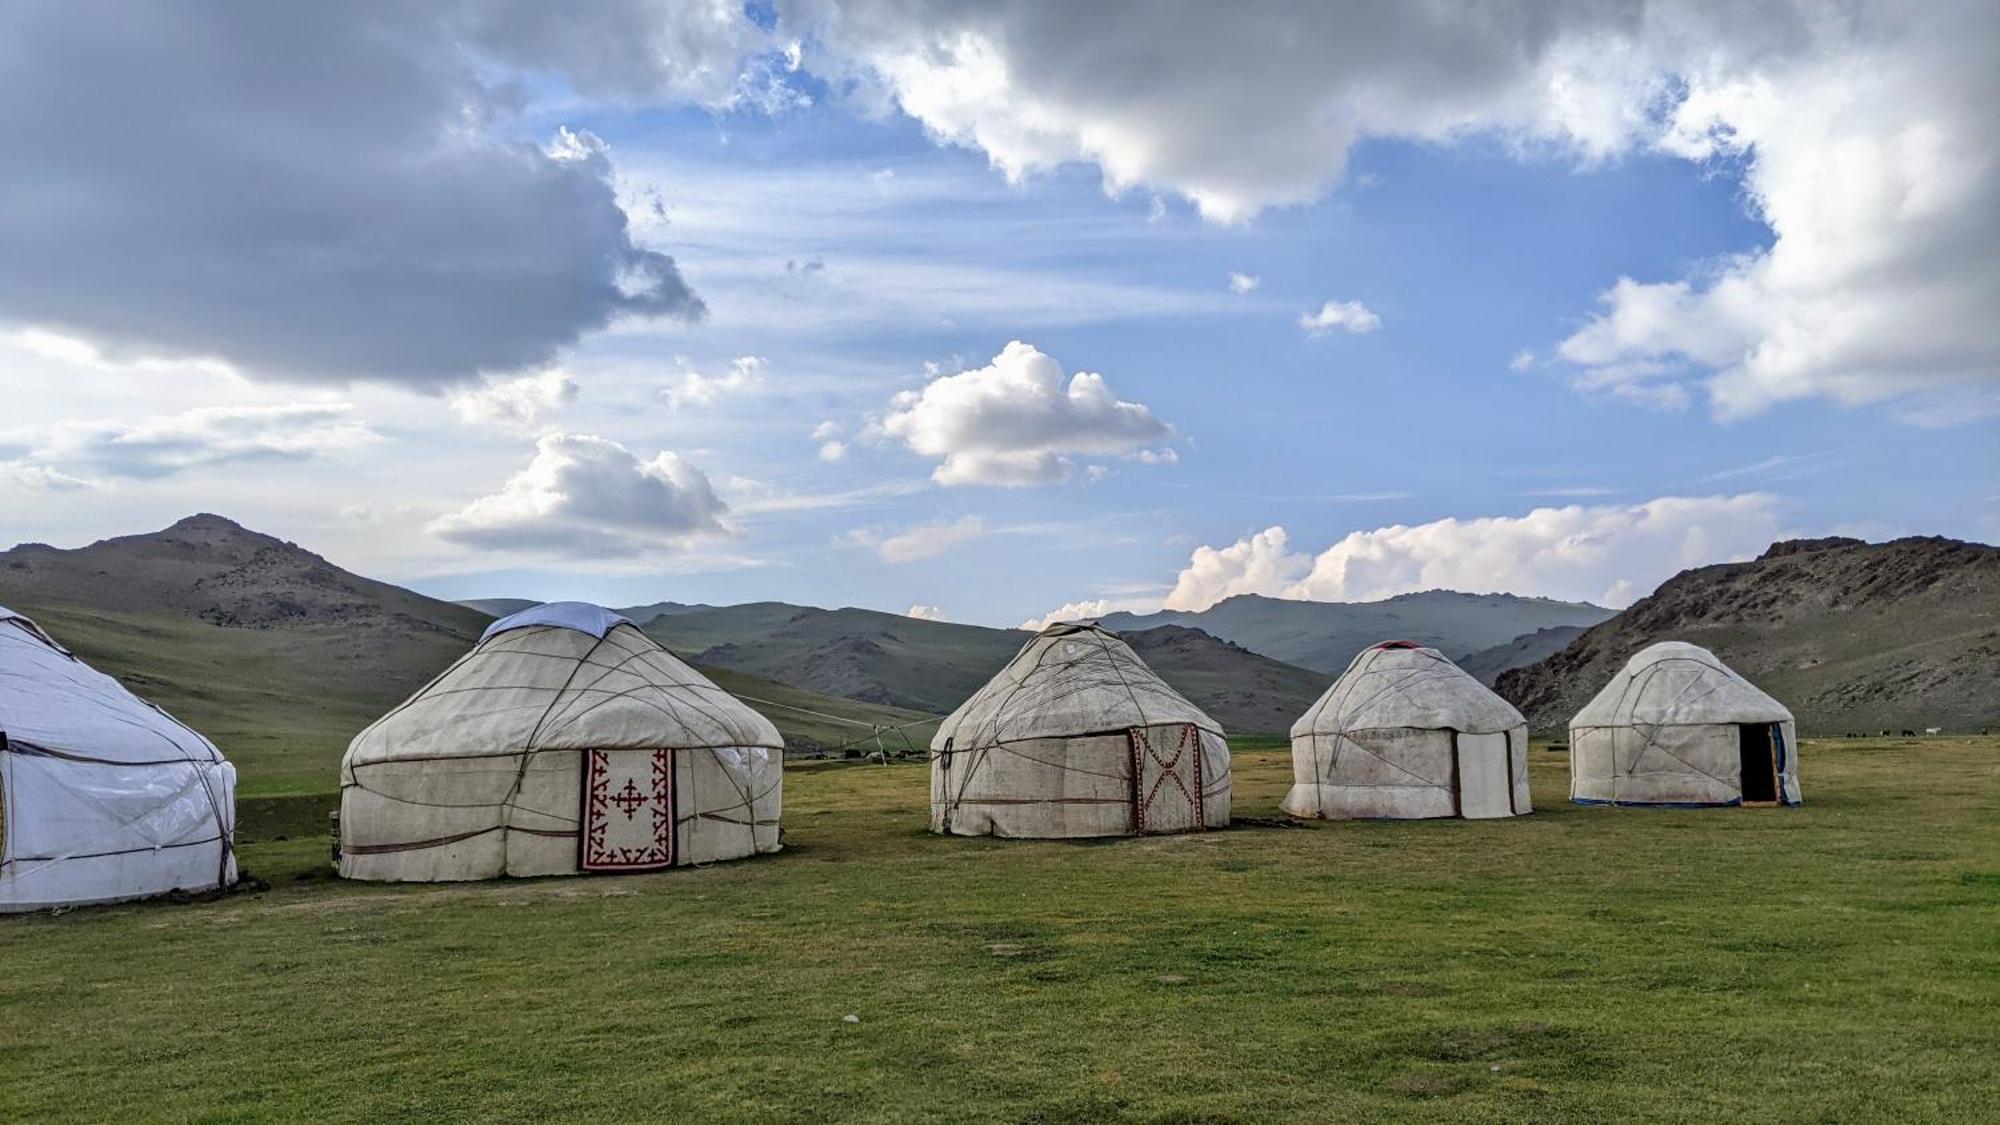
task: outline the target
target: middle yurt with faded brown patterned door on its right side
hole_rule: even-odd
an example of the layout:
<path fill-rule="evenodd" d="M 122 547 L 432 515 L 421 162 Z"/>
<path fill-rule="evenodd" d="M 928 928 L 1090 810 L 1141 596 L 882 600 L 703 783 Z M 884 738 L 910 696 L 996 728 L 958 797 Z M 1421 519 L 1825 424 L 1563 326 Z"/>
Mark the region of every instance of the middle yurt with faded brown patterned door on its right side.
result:
<path fill-rule="evenodd" d="M 1222 727 L 1096 625 L 1038 633 L 930 751 L 934 833 L 1120 837 L 1230 823 Z"/>

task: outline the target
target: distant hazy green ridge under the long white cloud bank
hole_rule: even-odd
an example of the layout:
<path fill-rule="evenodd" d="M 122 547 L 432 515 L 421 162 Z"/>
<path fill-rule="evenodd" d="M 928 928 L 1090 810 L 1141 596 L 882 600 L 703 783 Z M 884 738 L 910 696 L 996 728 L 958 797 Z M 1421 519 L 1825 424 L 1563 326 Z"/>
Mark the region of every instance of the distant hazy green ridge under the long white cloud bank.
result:
<path fill-rule="evenodd" d="M 1238 595 L 1204 611 L 1114 613 L 1104 629 L 1200 629 L 1274 661 L 1340 675 L 1378 641 L 1420 641 L 1454 661 L 1550 627 L 1592 627 L 1612 611 L 1586 603 L 1424 591 L 1378 603 L 1308 603 Z"/>

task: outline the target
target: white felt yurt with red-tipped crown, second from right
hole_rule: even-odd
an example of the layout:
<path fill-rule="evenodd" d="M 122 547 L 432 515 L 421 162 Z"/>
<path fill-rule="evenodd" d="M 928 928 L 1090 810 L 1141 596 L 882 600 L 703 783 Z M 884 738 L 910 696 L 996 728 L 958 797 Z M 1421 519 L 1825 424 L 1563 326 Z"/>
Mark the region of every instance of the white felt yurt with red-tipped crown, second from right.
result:
<path fill-rule="evenodd" d="M 1436 649 L 1364 649 L 1292 725 L 1294 817 L 1528 813 L 1528 721 Z"/>

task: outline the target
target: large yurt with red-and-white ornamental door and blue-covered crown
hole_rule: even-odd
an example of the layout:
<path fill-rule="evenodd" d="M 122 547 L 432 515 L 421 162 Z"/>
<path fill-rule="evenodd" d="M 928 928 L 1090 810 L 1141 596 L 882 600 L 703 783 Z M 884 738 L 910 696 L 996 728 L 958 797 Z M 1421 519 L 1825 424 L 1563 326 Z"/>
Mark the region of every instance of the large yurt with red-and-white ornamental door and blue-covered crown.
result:
<path fill-rule="evenodd" d="M 504 617 L 340 763 L 340 875 L 658 871 L 778 851 L 784 743 L 630 621 Z"/>

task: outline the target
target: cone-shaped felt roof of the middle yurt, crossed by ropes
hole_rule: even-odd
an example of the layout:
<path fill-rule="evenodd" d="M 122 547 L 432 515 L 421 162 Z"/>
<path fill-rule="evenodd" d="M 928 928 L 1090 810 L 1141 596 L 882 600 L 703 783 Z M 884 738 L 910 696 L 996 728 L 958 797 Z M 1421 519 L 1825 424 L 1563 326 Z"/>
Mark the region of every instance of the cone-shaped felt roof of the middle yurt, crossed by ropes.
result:
<path fill-rule="evenodd" d="M 942 747 L 1064 739 L 1192 723 L 1222 727 L 1154 675 L 1132 647 L 1096 625 L 1064 621 L 1034 635 L 994 679 L 954 711 L 932 741 Z"/>

